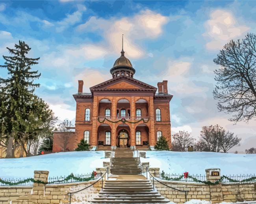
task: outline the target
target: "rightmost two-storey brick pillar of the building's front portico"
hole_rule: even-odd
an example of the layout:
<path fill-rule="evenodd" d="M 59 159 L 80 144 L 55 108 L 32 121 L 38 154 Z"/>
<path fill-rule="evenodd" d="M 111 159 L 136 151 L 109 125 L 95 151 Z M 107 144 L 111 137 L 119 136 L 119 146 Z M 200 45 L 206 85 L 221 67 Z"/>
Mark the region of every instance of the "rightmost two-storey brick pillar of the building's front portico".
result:
<path fill-rule="evenodd" d="M 149 97 L 149 145 L 150 147 L 153 147 L 155 145 L 155 116 L 154 116 L 154 97 Z"/>

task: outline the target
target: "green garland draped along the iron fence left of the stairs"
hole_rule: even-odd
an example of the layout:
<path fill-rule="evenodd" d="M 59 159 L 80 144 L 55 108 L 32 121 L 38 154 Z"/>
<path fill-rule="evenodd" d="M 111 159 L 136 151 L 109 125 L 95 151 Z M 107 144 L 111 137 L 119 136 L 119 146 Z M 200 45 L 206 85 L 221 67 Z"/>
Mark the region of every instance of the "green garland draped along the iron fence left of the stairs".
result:
<path fill-rule="evenodd" d="M 25 184 L 25 183 L 30 182 L 30 181 L 33 182 L 33 183 L 40 183 L 40 184 L 55 184 L 55 183 L 65 183 L 66 181 L 69 181 L 70 179 L 73 179 L 74 182 L 85 182 L 85 181 L 89 181 L 93 178 L 94 178 L 94 171 L 91 173 L 91 177 L 89 177 L 89 178 L 79 178 L 79 177 L 74 176 L 73 173 L 71 173 L 69 176 L 67 176 L 63 180 L 54 180 L 52 182 L 43 182 L 43 181 L 40 181 L 40 180 L 35 180 L 33 178 L 27 178 L 27 179 L 24 179 L 24 180 L 21 180 L 21 181 L 18 181 L 18 182 L 9 182 L 9 181 L 2 180 L 0 178 L 0 183 L 6 184 L 8 186 L 17 186 L 19 184 Z"/>

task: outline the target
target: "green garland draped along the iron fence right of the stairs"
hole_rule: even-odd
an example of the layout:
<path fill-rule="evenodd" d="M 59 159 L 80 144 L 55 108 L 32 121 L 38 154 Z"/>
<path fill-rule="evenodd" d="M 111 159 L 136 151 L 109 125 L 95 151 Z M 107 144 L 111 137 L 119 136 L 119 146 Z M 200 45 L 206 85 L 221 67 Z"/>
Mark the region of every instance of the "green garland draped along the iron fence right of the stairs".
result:
<path fill-rule="evenodd" d="M 181 175 L 180 177 L 178 178 L 169 178 L 168 176 L 165 176 L 165 173 L 162 171 L 161 173 L 161 177 L 163 180 L 173 180 L 173 181 L 181 181 L 182 178 L 184 178 L 184 175 Z M 191 178 L 193 181 L 195 182 L 200 182 L 200 183 L 204 183 L 204 184 L 207 184 L 207 185 L 217 185 L 219 184 L 219 182 L 222 182 L 224 180 L 224 178 L 226 178 L 227 180 L 229 180 L 230 182 L 250 182 L 250 181 L 253 181 L 253 180 L 256 180 L 256 176 L 252 176 L 250 178 L 247 178 L 247 179 L 244 179 L 244 180 L 234 180 L 232 178 L 228 178 L 227 176 L 221 176 L 220 179 L 216 180 L 215 182 L 210 182 L 210 181 L 201 181 L 201 180 L 198 180 L 197 178 L 195 177 L 192 177 L 192 176 L 187 176 L 188 178 Z"/>

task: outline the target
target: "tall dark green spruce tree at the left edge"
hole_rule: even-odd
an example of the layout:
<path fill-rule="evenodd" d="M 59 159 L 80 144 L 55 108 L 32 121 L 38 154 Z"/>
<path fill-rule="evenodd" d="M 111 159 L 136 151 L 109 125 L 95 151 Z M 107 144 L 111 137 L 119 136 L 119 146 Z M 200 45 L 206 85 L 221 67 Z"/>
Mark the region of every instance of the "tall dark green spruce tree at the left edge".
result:
<path fill-rule="evenodd" d="M 27 156 L 26 143 L 33 140 L 45 127 L 46 121 L 53 119 L 48 105 L 33 94 L 39 84 L 33 83 L 41 74 L 31 71 L 39 58 L 28 58 L 31 48 L 23 41 L 15 44 L 15 49 L 7 48 L 13 56 L 3 56 L 9 74 L 7 79 L 0 77 L 0 144 L 7 146 L 6 157 L 12 157 L 13 141 L 22 145 Z M 42 128 L 44 126 L 44 128 Z"/>

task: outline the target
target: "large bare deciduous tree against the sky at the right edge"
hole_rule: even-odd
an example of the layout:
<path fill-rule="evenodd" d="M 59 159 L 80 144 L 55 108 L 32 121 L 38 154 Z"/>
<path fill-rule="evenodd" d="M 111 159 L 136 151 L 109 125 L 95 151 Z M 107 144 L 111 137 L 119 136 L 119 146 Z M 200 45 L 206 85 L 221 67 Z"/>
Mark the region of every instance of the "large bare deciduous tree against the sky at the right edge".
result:
<path fill-rule="evenodd" d="M 217 86 L 213 96 L 218 109 L 233 114 L 230 121 L 249 121 L 256 117 L 256 35 L 231 40 L 213 60 Z"/>

